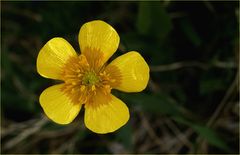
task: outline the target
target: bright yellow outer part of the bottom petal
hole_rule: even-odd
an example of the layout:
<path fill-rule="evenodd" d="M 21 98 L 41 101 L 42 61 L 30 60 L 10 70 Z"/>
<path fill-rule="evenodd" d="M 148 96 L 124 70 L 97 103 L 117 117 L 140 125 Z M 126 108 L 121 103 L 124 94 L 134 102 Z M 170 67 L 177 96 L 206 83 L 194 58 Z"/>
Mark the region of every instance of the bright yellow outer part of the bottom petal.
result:
<path fill-rule="evenodd" d="M 95 106 L 85 105 L 84 122 L 91 131 L 100 134 L 114 132 L 127 123 L 128 107 L 120 99 L 111 95 L 108 103 L 102 103 L 102 99 L 95 102 Z"/>

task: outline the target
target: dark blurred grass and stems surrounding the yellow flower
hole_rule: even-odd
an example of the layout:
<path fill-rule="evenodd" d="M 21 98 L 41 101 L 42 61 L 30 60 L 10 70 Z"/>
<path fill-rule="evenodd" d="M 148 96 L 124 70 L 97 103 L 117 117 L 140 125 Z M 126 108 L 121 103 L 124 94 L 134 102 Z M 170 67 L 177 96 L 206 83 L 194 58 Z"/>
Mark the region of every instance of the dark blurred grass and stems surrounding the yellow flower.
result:
<path fill-rule="evenodd" d="M 48 120 L 38 102 L 54 84 L 36 72 L 53 37 L 79 51 L 78 32 L 101 19 L 119 33 L 114 57 L 140 52 L 151 68 L 114 133 Z M 239 2 L 1 2 L 1 153 L 239 153 Z"/>

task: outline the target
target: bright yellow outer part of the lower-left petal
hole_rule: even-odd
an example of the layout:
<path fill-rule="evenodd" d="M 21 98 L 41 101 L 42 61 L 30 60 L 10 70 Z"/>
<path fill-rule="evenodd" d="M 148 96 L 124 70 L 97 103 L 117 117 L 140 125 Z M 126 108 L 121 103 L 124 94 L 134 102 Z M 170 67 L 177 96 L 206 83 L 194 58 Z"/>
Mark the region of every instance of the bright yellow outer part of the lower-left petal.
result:
<path fill-rule="evenodd" d="M 40 95 L 40 104 L 46 115 L 58 124 L 68 124 L 74 120 L 81 104 L 74 104 L 61 90 L 63 84 L 45 89 Z"/>

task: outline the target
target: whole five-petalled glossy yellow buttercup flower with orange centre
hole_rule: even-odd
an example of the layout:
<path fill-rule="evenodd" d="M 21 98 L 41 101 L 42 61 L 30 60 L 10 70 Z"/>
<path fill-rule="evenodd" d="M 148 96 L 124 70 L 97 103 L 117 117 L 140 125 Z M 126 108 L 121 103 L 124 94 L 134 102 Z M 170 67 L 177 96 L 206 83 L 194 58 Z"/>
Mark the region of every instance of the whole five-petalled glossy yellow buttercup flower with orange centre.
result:
<path fill-rule="evenodd" d="M 147 86 L 149 67 L 135 51 L 106 65 L 117 50 L 120 38 L 109 24 L 85 23 L 78 36 L 81 54 L 63 38 L 53 38 L 40 50 L 37 71 L 46 78 L 63 81 L 45 89 L 40 104 L 58 124 L 68 124 L 85 108 L 84 123 L 96 133 L 119 129 L 129 119 L 127 106 L 111 89 L 140 92 Z"/>

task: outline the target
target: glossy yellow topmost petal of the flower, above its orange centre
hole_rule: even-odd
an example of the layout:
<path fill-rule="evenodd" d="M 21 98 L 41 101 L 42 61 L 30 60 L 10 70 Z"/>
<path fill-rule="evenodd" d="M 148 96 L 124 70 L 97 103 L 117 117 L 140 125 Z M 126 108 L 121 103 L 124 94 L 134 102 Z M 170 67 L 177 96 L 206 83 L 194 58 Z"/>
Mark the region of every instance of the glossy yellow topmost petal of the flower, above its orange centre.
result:
<path fill-rule="evenodd" d="M 120 38 L 111 25 L 95 20 L 81 27 L 78 40 L 81 52 L 85 55 L 102 55 L 103 65 L 116 52 Z"/>

